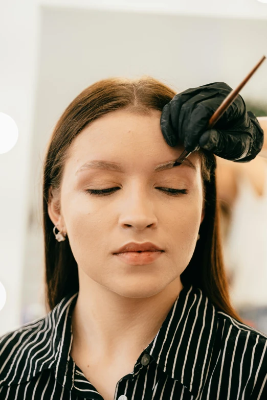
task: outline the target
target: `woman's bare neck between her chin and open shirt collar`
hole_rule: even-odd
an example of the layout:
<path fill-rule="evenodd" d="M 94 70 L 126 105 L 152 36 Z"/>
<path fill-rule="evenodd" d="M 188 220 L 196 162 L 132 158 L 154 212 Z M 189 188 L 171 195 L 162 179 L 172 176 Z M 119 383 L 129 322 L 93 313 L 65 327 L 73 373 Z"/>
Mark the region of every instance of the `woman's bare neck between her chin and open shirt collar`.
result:
<path fill-rule="evenodd" d="M 153 296 L 123 297 L 79 270 L 79 293 L 72 314 L 72 354 L 110 359 L 122 350 L 140 354 L 157 335 L 181 290 L 179 277 Z"/>

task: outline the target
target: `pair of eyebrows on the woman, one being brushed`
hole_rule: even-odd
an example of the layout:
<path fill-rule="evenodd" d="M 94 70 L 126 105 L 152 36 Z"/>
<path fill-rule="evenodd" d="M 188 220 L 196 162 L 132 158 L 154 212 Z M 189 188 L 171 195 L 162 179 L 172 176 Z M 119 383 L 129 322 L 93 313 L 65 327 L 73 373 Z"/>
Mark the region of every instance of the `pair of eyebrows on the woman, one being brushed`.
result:
<path fill-rule="evenodd" d="M 154 168 L 154 171 L 158 172 L 158 171 L 164 171 L 164 170 L 167 170 L 170 168 L 180 167 L 179 165 L 172 167 L 174 161 L 176 161 L 177 158 L 175 158 L 174 160 L 166 161 L 164 163 L 159 164 L 157 167 Z M 195 165 L 188 158 L 186 158 L 181 165 L 187 166 L 187 167 L 190 167 L 190 168 L 193 168 L 194 170 L 196 170 Z M 91 160 L 91 161 L 85 162 L 76 171 L 75 175 L 78 172 L 84 171 L 87 169 L 100 169 L 100 170 L 107 170 L 107 171 L 125 172 L 124 169 L 122 168 L 121 163 L 119 163 L 119 162 L 111 162 L 111 161 L 104 161 L 104 160 Z"/>

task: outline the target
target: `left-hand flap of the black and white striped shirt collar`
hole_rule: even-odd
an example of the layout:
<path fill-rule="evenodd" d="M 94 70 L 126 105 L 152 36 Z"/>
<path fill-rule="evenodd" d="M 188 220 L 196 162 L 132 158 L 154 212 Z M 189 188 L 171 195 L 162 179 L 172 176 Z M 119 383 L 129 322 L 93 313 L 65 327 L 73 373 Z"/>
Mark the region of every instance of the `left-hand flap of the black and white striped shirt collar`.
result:
<path fill-rule="evenodd" d="M 24 324 L 17 331 L 5 335 L 6 343 L 4 341 L 0 355 L 3 352 L 6 360 L 3 360 L 2 368 L 0 366 L 0 384 L 10 386 L 30 381 L 44 369 L 54 369 L 61 381 L 64 365 L 66 378 L 69 378 L 69 366 L 74 364 L 69 356 L 71 313 L 77 295 L 78 292 L 64 297 L 44 318 Z M 72 379 L 66 380 L 70 381 Z"/>

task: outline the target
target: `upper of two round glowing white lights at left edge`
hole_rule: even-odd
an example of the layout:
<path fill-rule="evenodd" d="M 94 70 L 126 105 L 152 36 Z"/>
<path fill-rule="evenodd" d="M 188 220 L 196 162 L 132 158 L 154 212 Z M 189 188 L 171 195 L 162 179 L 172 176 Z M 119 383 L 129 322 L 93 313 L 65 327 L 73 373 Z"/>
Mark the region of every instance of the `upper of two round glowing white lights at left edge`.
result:
<path fill-rule="evenodd" d="M 7 153 L 17 143 L 18 129 L 15 121 L 4 112 L 0 112 L 0 154 Z"/>

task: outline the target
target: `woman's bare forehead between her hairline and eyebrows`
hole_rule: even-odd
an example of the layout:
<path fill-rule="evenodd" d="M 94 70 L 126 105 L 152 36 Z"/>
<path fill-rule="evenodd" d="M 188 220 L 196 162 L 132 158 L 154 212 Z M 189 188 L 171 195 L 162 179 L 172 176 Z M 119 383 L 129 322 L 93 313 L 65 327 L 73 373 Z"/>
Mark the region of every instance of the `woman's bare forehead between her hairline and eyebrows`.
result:
<path fill-rule="evenodd" d="M 184 146 L 170 147 L 166 143 L 160 116 L 158 110 L 151 110 L 150 115 L 116 110 L 93 121 L 78 134 L 69 149 L 70 168 L 76 172 L 88 161 L 105 160 L 121 164 L 125 172 L 132 168 L 148 171 L 178 158 Z M 188 160 L 197 167 L 197 154 L 191 153 Z"/>

